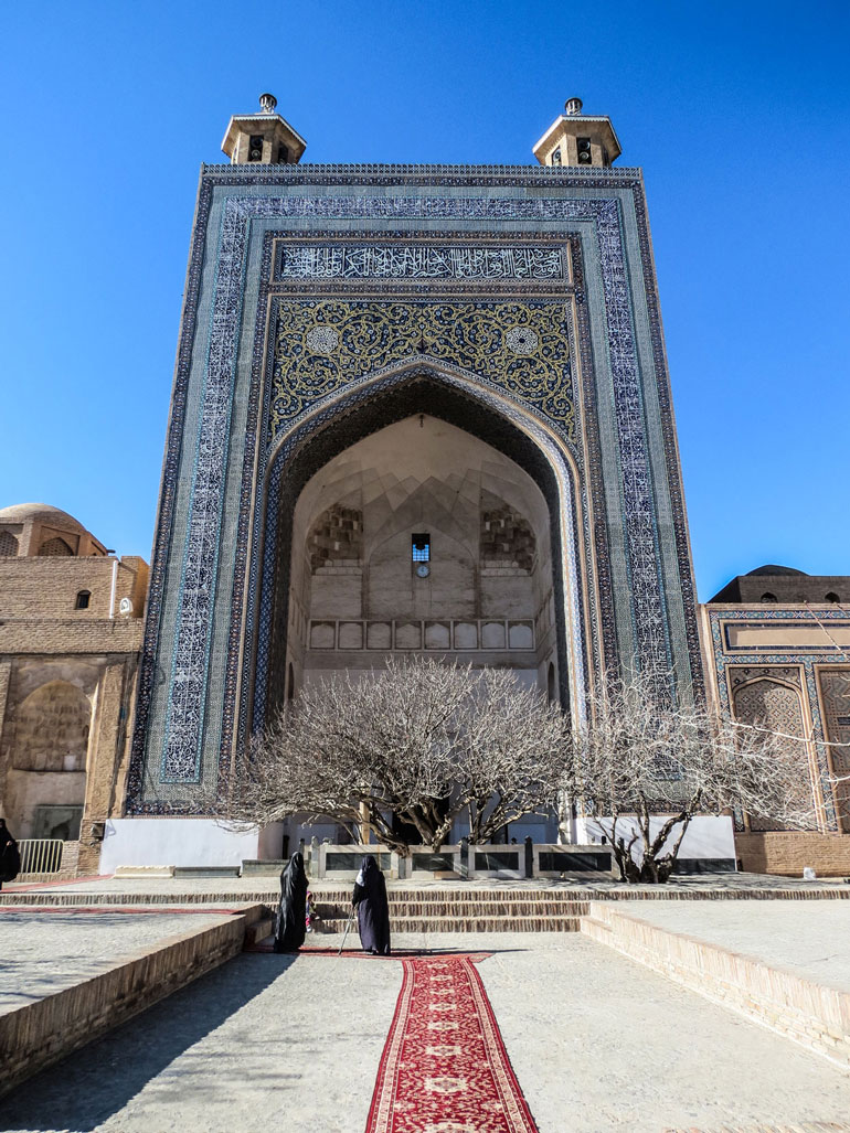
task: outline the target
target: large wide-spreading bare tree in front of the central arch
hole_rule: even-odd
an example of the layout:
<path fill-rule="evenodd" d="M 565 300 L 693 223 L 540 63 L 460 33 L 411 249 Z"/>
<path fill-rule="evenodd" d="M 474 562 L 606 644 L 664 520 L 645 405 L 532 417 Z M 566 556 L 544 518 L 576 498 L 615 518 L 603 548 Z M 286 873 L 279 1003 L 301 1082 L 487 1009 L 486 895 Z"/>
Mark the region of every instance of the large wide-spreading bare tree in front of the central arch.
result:
<path fill-rule="evenodd" d="M 560 708 L 510 671 L 390 659 L 305 689 L 237 761 L 224 813 L 330 817 L 407 854 L 405 825 L 439 849 L 468 811 L 470 840 L 485 841 L 554 802 L 564 735 Z"/>

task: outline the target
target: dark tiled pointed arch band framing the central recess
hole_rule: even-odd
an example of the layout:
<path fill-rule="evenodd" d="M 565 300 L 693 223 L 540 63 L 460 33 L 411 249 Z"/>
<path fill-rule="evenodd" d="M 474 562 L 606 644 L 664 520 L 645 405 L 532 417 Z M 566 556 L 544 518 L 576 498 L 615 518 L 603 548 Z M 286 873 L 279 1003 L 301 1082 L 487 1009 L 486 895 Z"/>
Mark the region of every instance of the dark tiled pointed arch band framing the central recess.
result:
<path fill-rule="evenodd" d="M 246 657 L 254 727 L 262 726 L 266 712 L 284 695 L 270 673 L 286 672 L 292 512 L 300 491 L 315 472 L 357 441 L 417 414 L 445 420 L 498 449 L 542 491 L 552 539 L 560 699 L 581 718 L 593 632 L 588 614 L 592 579 L 580 537 L 580 476 L 570 445 L 533 409 L 486 386 L 475 375 L 416 358 L 349 383 L 305 414 L 272 445 L 258 512 L 262 565 L 255 647 L 253 656 Z"/>

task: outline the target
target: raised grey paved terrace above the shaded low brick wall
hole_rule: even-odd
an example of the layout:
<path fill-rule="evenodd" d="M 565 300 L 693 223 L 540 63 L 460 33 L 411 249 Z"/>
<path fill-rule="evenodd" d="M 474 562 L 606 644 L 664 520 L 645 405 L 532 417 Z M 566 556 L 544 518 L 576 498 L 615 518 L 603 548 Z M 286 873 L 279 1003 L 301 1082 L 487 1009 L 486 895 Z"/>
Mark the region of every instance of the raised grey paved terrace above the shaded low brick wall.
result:
<path fill-rule="evenodd" d="M 91 979 L 116 961 L 221 917 L 158 911 L 0 911 L 0 1014 Z"/>

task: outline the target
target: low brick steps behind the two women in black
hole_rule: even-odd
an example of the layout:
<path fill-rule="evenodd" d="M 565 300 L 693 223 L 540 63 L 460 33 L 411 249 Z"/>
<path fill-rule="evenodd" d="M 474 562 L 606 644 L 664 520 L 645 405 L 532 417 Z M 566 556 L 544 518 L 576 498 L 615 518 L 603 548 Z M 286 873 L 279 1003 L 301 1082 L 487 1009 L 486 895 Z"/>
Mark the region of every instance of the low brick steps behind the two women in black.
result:
<path fill-rule="evenodd" d="M 397 932 L 577 932 L 588 902 L 569 892 L 534 889 L 419 889 L 388 894 Z M 316 894 L 316 932 L 342 932 L 351 912 L 349 889 Z"/>

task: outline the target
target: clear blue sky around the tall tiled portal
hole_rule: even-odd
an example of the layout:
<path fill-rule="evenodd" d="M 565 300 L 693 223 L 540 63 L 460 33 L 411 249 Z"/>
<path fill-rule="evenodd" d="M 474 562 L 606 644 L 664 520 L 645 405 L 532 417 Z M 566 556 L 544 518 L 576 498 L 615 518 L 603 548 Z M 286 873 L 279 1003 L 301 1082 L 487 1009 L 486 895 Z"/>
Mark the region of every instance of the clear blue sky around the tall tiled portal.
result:
<path fill-rule="evenodd" d="M 644 168 L 700 598 L 850 574 L 850 5 L 2 6 L 0 505 L 148 556 L 198 165 L 261 91 L 312 162 Z"/>

